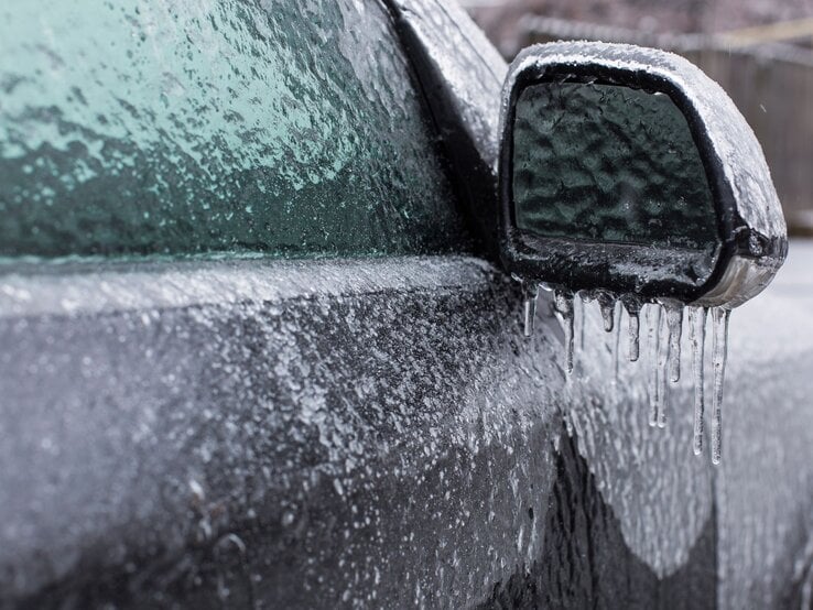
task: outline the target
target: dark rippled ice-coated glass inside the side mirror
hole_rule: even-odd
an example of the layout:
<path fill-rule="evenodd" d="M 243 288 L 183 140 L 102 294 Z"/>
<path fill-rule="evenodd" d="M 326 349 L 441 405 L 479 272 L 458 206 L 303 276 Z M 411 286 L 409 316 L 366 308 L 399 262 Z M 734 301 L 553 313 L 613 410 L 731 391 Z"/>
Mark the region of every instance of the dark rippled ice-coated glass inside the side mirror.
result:
<path fill-rule="evenodd" d="M 708 257 L 719 243 L 700 152 L 665 94 L 595 83 L 525 87 L 511 187 L 514 226 L 529 237 Z"/>

